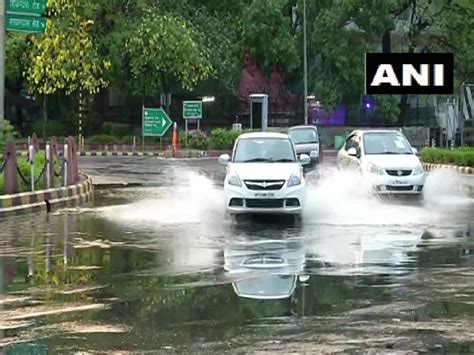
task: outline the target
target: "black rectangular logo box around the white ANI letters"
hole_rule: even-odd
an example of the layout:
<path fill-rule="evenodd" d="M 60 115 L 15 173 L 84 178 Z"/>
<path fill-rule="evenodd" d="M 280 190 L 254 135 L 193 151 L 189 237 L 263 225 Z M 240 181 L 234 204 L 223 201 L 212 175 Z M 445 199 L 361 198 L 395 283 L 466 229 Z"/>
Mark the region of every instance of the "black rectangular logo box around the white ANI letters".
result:
<path fill-rule="evenodd" d="M 400 83 L 392 86 L 382 83 L 371 86 L 379 65 L 390 64 Z M 412 85 L 402 86 L 403 64 L 411 64 L 415 69 L 420 64 L 430 66 L 430 85 L 420 86 L 416 80 Z M 434 86 L 432 80 L 435 64 L 444 65 L 444 85 Z M 452 95 L 454 93 L 454 55 L 453 53 L 366 53 L 365 55 L 365 93 L 366 95 Z"/>

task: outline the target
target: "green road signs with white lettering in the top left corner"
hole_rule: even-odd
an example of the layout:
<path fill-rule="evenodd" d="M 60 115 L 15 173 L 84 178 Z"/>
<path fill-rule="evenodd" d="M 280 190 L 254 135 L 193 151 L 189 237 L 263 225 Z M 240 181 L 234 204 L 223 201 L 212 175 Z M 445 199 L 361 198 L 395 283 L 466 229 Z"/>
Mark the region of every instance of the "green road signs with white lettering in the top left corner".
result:
<path fill-rule="evenodd" d="M 43 17 L 47 10 L 46 0 L 7 0 L 7 31 L 44 33 L 47 20 Z"/>

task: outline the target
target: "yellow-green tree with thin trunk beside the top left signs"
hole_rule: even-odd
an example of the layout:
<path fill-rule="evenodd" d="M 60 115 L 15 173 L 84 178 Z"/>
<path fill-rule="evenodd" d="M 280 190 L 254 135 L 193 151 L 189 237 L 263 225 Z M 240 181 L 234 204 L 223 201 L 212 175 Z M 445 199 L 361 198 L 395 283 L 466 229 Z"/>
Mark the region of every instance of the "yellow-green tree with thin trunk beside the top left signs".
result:
<path fill-rule="evenodd" d="M 28 63 L 23 75 L 28 91 L 43 95 L 43 136 L 46 136 L 48 95 L 65 91 L 96 94 L 106 87 L 104 72 L 110 62 L 102 59 L 89 34 L 93 21 L 82 16 L 84 4 L 71 0 L 51 0 L 48 3 L 48 25 L 44 35 L 30 37 Z"/>

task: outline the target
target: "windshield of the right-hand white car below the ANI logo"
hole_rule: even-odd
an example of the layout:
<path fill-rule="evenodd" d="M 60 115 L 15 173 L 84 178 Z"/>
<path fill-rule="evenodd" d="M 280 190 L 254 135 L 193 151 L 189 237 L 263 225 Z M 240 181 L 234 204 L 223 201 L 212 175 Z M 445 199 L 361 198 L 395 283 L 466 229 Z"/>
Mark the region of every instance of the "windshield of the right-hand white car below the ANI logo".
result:
<path fill-rule="evenodd" d="M 413 154 L 405 137 L 396 132 L 365 133 L 364 153 L 367 154 Z"/>

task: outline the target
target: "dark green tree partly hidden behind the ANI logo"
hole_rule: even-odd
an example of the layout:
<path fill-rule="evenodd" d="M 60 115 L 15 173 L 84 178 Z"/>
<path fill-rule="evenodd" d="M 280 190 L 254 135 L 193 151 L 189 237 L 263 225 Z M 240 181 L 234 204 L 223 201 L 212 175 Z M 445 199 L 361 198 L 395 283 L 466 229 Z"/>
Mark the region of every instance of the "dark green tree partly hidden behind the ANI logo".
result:
<path fill-rule="evenodd" d="M 381 50 L 384 35 L 395 28 L 402 1 L 328 1 L 309 12 L 310 87 L 326 107 L 361 103 L 365 53 Z M 311 15 L 308 16 L 311 18 Z M 397 96 L 375 97 L 375 113 L 393 123 L 399 114 Z"/>

